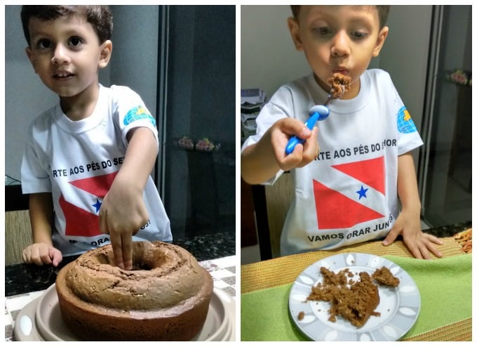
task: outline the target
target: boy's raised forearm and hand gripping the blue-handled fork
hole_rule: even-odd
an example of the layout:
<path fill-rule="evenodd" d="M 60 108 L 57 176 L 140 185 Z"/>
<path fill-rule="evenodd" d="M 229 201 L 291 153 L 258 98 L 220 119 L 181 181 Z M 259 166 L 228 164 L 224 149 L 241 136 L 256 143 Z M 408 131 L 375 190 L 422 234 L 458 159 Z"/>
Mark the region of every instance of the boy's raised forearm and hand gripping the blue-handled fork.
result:
<path fill-rule="evenodd" d="M 319 152 L 317 134 L 318 128 L 310 131 L 297 119 L 278 120 L 257 143 L 246 147 L 241 153 L 243 180 L 249 184 L 260 184 L 275 176 L 280 169 L 287 171 L 308 164 Z M 290 155 L 285 155 L 285 147 L 292 135 L 306 141 L 303 145 L 297 145 Z"/>

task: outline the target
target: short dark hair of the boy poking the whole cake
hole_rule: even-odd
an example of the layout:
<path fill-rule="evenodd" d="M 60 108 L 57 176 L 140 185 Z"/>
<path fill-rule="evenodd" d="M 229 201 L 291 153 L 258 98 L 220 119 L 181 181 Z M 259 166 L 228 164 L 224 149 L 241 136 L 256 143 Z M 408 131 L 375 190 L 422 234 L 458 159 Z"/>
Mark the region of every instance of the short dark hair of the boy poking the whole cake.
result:
<path fill-rule="evenodd" d="M 23 5 L 20 17 L 22 18 L 23 33 L 30 46 L 28 24 L 30 18 L 40 20 L 55 20 L 60 17 L 71 15 L 84 15 L 86 20 L 93 26 L 100 44 L 111 39 L 113 31 L 113 15 L 109 6 L 79 6 L 79 5 Z"/>

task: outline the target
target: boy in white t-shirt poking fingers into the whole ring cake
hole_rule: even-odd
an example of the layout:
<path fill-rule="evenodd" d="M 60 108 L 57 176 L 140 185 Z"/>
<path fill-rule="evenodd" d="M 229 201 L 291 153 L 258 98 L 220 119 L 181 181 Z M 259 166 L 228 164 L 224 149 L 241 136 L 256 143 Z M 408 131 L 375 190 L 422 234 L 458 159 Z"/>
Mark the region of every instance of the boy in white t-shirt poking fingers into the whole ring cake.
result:
<path fill-rule="evenodd" d="M 130 270 L 132 242 L 170 242 L 169 219 L 149 176 L 158 152 L 154 118 L 124 86 L 98 71 L 112 53 L 107 6 L 22 6 L 26 52 L 60 102 L 34 119 L 22 161 L 34 244 L 26 263 L 58 266 L 62 255 L 111 242 Z"/>

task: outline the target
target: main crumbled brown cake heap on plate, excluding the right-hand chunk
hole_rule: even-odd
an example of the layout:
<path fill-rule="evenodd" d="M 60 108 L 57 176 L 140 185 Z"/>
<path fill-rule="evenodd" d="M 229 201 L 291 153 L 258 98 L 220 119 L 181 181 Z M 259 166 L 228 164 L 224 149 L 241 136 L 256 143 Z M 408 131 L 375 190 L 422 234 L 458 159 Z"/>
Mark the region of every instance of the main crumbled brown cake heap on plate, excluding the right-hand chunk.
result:
<path fill-rule="evenodd" d="M 349 269 L 333 273 L 327 268 L 320 268 L 323 283 L 311 288 L 308 300 L 329 301 L 331 322 L 336 322 L 336 316 L 341 315 L 352 325 L 362 327 L 371 315 L 380 315 L 375 312 L 379 304 L 377 286 L 372 283 L 368 273 L 359 273 L 360 280 L 349 280 L 352 273 Z"/>

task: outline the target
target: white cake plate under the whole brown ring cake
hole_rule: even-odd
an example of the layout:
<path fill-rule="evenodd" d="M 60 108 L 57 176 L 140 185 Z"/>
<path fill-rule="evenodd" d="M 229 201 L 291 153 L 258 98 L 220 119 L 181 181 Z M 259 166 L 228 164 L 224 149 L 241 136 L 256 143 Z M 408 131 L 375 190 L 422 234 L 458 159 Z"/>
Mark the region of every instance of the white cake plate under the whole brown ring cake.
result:
<path fill-rule="evenodd" d="M 55 284 L 20 310 L 13 328 L 17 341 L 79 341 L 62 320 Z M 214 287 L 201 331 L 192 341 L 235 341 L 235 301 Z"/>

